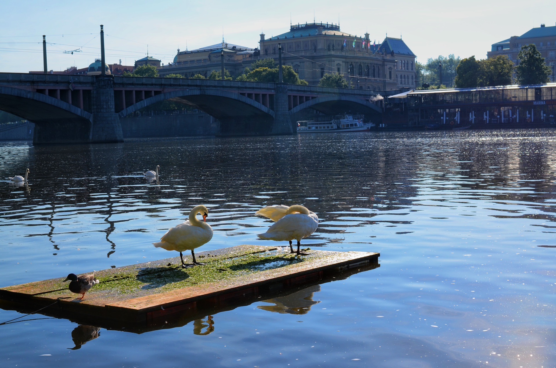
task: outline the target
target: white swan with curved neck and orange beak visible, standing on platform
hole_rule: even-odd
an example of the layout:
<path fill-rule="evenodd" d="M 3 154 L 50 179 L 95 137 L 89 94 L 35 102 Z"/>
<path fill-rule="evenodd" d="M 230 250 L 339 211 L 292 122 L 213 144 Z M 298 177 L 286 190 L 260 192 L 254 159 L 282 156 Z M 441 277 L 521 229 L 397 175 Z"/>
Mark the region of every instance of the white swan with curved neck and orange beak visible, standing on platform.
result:
<path fill-rule="evenodd" d="M 204 222 L 197 220 L 197 213 L 201 213 Z M 212 239 L 212 228 L 206 223 L 207 216 L 209 216 L 209 210 L 207 210 L 205 206 L 196 206 L 189 212 L 189 220 L 176 227 L 172 227 L 162 236 L 160 242 L 153 244 L 155 247 L 164 248 L 167 251 L 180 252 L 181 266 L 183 268 L 204 265 L 205 263 L 200 263 L 195 260 L 193 249 L 200 247 Z M 181 252 L 188 249 L 191 250 L 191 256 L 193 257 L 192 264 L 183 262 L 183 255 Z"/>

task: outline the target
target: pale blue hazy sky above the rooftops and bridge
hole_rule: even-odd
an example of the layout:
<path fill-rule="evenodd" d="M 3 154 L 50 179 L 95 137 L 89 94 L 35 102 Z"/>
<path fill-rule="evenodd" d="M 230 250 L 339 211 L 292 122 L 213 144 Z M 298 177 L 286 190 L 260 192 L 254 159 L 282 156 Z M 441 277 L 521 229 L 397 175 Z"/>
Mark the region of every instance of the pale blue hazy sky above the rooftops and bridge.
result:
<path fill-rule="evenodd" d="M 276 3 L 278 3 L 276 5 Z M 163 63 L 182 51 L 222 41 L 258 47 L 291 23 L 340 22 L 343 32 L 383 41 L 401 37 L 417 61 L 454 54 L 486 58 L 491 44 L 534 27 L 556 25 L 556 1 L 8 1 L 0 0 L 0 72 L 42 71 L 42 35 L 48 69 L 85 68 L 100 58 L 133 65 L 148 54 Z M 71 54 L 73 51 L 73 54 Z"/>

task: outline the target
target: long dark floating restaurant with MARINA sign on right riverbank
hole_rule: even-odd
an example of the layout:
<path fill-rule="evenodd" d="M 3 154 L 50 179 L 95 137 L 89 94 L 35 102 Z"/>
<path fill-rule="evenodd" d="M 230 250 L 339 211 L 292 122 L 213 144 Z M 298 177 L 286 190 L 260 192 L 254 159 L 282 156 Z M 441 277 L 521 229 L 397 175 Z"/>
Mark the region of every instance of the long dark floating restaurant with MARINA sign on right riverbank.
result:
<path fill-rule="evenodd" d="M 385 123 L 400 127 L 550 125 L 556 83 L 408 91 L 388 97 L 384 112 Z"/>

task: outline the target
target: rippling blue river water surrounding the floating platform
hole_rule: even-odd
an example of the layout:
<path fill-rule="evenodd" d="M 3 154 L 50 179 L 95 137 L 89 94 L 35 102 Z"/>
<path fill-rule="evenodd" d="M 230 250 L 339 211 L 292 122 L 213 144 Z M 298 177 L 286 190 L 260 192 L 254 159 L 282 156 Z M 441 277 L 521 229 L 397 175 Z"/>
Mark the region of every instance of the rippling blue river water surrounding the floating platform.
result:
<path fill-rule="evenodd" d="M 198 204 L 215 231 L 198 252 L 276 245 L 255 211 L 301 203 L 320 219 L 302 245 L 381 256 L 143 334 L 27 316 L 0 325 L 0 365 L 553 367 L 555 152 L 554 130 L 3 142 L 0 287 L 176 256 L 151 243 Z M 28 186 L 4 180 L 27 167 Z"/>

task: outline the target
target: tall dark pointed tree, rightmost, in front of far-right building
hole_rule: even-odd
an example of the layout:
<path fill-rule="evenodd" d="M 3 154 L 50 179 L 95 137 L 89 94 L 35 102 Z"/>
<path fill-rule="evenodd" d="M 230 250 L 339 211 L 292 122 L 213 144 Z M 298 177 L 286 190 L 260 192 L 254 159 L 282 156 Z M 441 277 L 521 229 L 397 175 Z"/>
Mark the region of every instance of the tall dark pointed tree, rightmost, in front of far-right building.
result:
<path fill-rule="evenodd" d="M 515 79 L 518 84 L 547 83 L 552 69 L 544 63 L 544 58 L 531 43 L 522 47 L 518 54 L 519 64 L 515 67 Z"/>

